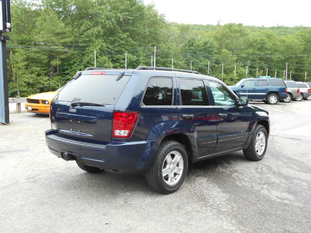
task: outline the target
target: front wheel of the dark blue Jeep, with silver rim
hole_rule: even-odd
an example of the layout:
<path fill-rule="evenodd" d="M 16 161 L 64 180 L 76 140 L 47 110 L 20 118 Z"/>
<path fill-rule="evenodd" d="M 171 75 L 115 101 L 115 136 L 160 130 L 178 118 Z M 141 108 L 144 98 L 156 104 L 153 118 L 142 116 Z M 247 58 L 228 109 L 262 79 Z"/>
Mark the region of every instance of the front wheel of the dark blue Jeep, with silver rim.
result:
<path fill-rule="evenodd" d="M 268 133 L 263 125 L 257 125 L 248 148 L 243 150 L 246 159 L 259 161 L 266 153 L 268 146 Z"/>

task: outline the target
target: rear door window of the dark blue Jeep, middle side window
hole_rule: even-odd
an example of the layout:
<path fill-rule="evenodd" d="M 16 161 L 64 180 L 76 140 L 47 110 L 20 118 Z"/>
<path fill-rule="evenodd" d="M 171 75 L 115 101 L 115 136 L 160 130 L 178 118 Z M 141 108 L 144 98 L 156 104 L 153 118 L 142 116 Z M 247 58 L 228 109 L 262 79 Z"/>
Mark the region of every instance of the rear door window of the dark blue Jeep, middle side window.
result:
<path fill-rule="evenodd" d="M 202 80 L 179 79 L 181 105 L 209 105 Z"/>

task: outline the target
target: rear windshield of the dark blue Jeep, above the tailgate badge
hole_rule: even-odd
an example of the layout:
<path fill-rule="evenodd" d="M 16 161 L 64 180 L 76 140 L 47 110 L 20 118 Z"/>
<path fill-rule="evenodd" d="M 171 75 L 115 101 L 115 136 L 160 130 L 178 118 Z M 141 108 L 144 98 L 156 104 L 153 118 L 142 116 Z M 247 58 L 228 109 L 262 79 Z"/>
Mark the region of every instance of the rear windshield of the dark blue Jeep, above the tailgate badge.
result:
<path fill-rule="evenodd" d="M 116 81 L 118 75 L 81 75 L 71 81 L 59 92 L 57 100 L 116 104 L 130 76 L 123 76 Z"/>

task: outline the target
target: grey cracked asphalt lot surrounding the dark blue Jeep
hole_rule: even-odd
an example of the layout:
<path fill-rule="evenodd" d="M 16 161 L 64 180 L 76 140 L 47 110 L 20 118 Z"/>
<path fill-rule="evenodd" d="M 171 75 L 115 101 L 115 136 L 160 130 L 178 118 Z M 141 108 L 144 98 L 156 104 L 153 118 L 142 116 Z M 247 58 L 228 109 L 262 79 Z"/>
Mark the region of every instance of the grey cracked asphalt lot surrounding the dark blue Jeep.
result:
<path fill-rule="evenodd" d="M 12 114 L 0 126 L 0 233 L 311 232 L 311 101 L 254 103 L 272 122 L 264 159 L 191 164 L 171 195 L 142 172 L 87 174 L 48 151 L 49 117 Z"/>

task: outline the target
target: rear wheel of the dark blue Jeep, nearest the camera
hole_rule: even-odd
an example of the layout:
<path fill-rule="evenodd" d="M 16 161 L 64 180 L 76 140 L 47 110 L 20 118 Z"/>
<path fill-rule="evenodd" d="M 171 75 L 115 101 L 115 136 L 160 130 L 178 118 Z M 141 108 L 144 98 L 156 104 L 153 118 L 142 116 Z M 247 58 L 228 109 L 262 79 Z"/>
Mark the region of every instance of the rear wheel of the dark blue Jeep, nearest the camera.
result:
<path fill-rule="evenodd" d="M 187 169 L 188 157 L 184 146 L 176 141 L 163 141 L 153 164 L 146 171 L 146 181 L 155 192 L 170 194 L 180 188 Z"/>

